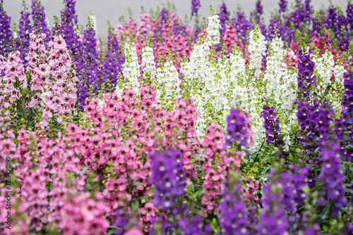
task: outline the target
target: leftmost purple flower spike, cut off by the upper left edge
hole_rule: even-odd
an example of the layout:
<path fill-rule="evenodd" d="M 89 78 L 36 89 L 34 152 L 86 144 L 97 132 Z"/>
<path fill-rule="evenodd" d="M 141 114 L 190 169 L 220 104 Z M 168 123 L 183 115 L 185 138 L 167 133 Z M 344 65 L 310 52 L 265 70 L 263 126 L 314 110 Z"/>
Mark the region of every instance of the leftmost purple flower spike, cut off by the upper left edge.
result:
<path fill-rule="evenodd" d="M 6 56 L 10 52 L 10 43 L 12 36 L 11 17 L 4 11 L 2 1 L 0 3 L 0 53 Z"/>

